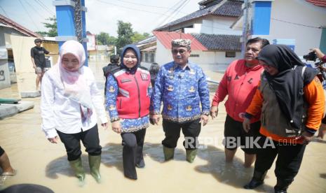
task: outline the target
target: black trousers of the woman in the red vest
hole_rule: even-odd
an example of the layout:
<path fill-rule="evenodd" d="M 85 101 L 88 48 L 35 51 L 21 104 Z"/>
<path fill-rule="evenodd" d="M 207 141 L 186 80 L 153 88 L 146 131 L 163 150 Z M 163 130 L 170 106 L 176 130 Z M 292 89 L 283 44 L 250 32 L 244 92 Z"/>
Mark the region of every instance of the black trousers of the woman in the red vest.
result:
<path fill-rule="evenodd" d="M 144 167 L 142 149 L 144 147 L 146 129 L 122 133 L 123 172 L 127 178 L 137 179 L 135 166 Z"/>

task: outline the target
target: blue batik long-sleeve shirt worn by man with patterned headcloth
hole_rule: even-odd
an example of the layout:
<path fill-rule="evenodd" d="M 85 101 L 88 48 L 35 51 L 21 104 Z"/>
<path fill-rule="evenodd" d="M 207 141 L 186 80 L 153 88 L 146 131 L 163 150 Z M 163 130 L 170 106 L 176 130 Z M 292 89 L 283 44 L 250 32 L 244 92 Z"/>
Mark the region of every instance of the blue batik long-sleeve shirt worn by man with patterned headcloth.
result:
<path fill-rule="evenodd" d="M 151 114 L 172 122 L 189 122 L 210 111 L 210 92 L 201 67 L 189 62 L 181 69 L 175 62 L 161 66 L 151 99 Z"/>

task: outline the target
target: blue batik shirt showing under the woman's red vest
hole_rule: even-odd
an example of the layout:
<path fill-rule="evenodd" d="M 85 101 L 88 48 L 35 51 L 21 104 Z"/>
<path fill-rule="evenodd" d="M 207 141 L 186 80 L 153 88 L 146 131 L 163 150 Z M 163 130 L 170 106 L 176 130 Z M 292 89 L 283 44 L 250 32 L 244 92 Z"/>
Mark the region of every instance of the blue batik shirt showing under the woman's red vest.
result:
<path fill-rule="evenodd" d="M 151 96 L 152 89 L 148 88 L 149 96 Z M 109 74 L 107 77 L 107 103 L 106 109 L 109 111 L 111 122 L 118 120 L 118 110 L 116 110 L 116 96 L 118 96 L 118 83 L 114 76 Z M 144 116 L 135 119 L 120 119 L 121 131 L 123 133 L 135 132 L 140 129 L 149 127 L 149 116 Z"/>

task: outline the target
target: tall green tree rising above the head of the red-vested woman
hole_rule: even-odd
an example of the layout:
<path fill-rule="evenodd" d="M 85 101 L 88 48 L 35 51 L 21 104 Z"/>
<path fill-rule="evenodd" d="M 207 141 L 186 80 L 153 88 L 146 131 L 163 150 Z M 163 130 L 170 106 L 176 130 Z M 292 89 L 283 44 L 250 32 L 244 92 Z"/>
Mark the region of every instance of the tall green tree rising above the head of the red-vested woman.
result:
<path fill-rule="evenodd" d="M 133 28 L 130 22 L 123 22 L 118 20 L 118 38 L 116 40 L 116 47 L 118 49 L 123 48 L 123 46 L 133 43 L 131 38 L 133 37 Z"/>

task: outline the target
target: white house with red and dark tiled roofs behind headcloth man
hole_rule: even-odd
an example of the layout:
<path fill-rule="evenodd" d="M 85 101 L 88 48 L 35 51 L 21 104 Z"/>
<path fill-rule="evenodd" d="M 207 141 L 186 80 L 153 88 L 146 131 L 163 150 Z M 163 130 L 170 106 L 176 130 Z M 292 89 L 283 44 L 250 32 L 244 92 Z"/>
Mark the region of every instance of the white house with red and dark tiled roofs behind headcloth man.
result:
<path fill-rule="evenodd" d="M 230 27 L 242 15 L 243 1 L 205 0 L 198 4 L 199 10 L 154 29 L 155 38 L 137 43 L 144 66 L 170 62 L 170 42 L 175 38 L 191 39 L 191 62 L 213 71 L 225 71 L 231 61 L 241 57 L 242 29 Z"/>

